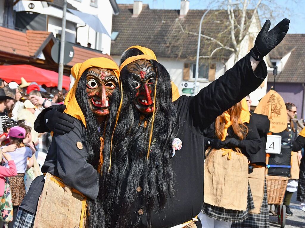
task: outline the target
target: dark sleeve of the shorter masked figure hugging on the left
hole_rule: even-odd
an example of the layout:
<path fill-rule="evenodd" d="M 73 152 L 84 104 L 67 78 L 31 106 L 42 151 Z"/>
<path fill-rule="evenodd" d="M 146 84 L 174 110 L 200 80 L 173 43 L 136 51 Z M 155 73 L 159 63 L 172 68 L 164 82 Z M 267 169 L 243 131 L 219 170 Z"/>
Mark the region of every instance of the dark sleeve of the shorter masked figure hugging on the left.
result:
<path fill-rule="evenodd" d="M 53 137 L 57 146 L 58 174 L 65 184 L 95 199 L 99 192 L 99 174 L 86 161 L 86 147 L 78 149 L 76 146 L 77 142 L 83 142 L 83 134 L 80 121 L 74 123 L 69 133 Z"/>

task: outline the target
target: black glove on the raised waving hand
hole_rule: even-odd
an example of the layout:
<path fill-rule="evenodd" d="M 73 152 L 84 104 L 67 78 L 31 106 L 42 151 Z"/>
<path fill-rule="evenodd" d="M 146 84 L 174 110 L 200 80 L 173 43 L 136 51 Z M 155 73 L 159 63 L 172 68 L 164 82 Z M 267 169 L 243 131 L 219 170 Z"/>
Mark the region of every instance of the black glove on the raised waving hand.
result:
<path fill-rule="evenodd" d="M 289 23 L 290 20 L 285 18 L 268 32 L 271 23 L 267 20 L 256 37 L 254 47 L 250 50 L 251 56 L 256 61 L 262 61 L 265 55 L 281 43 L 289 29 Z"/>

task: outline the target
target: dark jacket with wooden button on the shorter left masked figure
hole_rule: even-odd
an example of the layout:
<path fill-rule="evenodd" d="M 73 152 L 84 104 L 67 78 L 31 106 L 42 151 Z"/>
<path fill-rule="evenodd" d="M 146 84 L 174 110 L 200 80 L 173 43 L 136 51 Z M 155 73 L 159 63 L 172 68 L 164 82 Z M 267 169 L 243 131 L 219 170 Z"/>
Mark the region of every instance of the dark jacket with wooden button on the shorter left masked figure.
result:
<path fill-rule="evenodd" d="M 44 113 L 48 110 L 50 109 L 45 109 Z M 66 185 L 80 191 L 88 198 L 95 199 L 99 192 L 99 174 L 86 161 L 85 131 L 81 121 L 74 118 L 74 129 L 69 133 L 54 134 L 41 171 L 61 178 Z M 34 179 L 20 208 L 36 213 L 38 199 L 45 182 L 43 178 L 44 176 L 39 176 Z"/>

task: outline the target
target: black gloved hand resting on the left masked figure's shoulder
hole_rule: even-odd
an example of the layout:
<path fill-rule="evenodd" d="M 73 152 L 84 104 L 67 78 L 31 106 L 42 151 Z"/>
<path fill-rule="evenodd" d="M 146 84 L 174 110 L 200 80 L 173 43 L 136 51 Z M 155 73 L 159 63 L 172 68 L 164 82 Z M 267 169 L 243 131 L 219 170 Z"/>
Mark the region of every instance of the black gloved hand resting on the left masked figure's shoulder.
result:
<path fill-rule="evenodd" d="M 44 116 L 47 128 L 58 135 L 69 133 L 74 128 L 74 119 L 63 113 L 65 109 L 66 105 L 58 105 L 58 107 L 48 111 Z"/>

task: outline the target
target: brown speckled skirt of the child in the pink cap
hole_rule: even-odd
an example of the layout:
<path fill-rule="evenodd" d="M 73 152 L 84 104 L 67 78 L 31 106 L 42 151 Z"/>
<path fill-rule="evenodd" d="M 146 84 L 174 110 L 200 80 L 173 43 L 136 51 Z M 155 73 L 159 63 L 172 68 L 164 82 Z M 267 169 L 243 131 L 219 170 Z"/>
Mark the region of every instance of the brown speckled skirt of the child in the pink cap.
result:
<path fill-rule="evenodd" d="M 19 206 L 25 197 L 24 173 L 9 177 L 9 187 L 12 192 L 13 205 Z"/>

